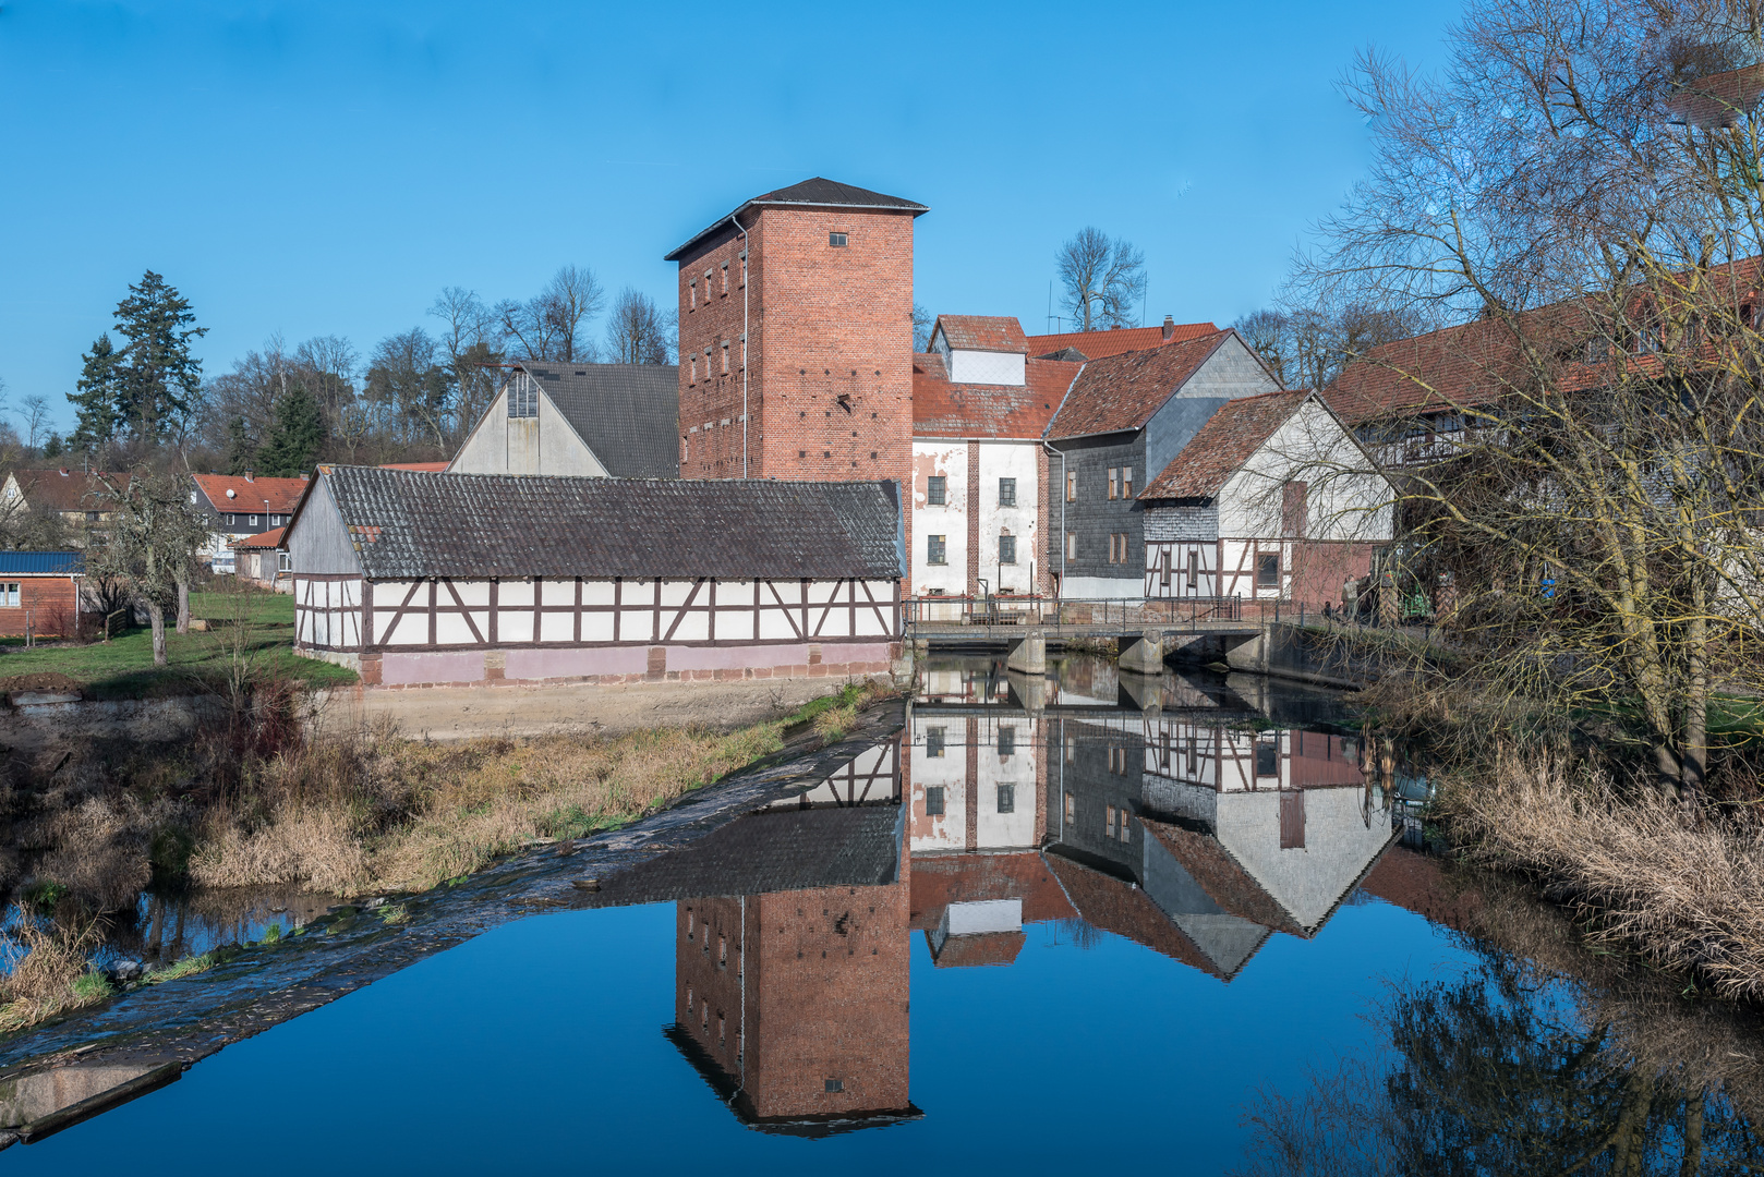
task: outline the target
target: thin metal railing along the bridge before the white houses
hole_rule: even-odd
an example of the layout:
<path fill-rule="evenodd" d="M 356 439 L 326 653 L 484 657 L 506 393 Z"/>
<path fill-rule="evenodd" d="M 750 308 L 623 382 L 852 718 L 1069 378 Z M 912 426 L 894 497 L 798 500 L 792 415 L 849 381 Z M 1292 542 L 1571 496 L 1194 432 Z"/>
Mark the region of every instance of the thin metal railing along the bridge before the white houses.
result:
<path fill-rule="evenodd" d="M 1185 628 L 1244 621 L 1242 596 L 914 596 L 901 602 L 907 630 L 960 628 Z"/>

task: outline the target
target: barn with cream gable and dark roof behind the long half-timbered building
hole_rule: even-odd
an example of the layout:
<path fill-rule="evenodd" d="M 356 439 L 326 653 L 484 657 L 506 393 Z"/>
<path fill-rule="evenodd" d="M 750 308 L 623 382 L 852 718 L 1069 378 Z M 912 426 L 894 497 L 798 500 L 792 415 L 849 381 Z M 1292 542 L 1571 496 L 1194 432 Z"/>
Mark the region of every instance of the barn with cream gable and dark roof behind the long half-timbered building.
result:
<path fill-rule="evenodd" d="M 515 364 L 450 475 L 679 478 L 672 364 Z"/>

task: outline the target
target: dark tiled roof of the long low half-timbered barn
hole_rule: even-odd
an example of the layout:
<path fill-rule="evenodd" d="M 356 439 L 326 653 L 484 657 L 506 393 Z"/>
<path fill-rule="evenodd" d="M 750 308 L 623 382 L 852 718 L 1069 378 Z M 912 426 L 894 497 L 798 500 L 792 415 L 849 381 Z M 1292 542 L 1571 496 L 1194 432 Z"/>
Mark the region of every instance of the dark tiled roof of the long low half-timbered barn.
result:
<path fill-rule="evenodd" d="M 893 482 L 441 475 L 374 466 L 323 466 L 319 476 L 369 579 L 901 575 Z M 310 501 L 307 494 L 302 512 Z"/>

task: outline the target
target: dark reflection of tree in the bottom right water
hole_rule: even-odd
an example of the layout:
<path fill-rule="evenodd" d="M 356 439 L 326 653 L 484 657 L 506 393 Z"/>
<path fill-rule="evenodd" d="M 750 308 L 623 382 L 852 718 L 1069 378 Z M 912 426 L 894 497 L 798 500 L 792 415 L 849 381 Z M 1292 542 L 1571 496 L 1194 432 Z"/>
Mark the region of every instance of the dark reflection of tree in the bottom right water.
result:
<path fill-rule="evenodd" d="M 1764 1172 L 1752 1117 L 1704 1059 L 1637 1052 L 1579 985 L 1468 946 L 1466 976 L 1392 990 L 1387 1053 L 1263 1094 L 1245 1172 Z"/>

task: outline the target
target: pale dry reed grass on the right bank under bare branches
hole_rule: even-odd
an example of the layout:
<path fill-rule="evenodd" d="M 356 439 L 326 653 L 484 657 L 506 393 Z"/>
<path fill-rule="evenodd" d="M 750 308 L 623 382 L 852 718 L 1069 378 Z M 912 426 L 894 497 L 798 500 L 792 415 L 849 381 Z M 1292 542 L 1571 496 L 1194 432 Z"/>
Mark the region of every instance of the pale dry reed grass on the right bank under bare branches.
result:
<path fill-rule="evenodd" d="M 1441 810 L 1473 858 L 1519 868 L 1626 946 L 1729 999 L 1764 999 L 1764 835 L 1621 791 L 1552 757 L 1496 757 L 1492 782 L 1450 782 Z"/>

